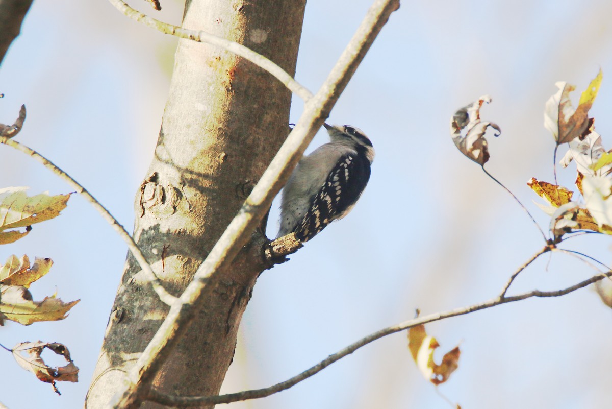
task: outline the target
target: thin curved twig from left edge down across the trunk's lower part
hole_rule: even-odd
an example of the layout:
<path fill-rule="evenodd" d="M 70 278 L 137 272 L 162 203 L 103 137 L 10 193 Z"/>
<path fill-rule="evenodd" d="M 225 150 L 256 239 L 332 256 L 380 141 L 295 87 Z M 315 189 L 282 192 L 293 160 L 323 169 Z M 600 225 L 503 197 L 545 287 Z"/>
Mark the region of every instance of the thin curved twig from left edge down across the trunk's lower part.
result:
<path fill-rule="evenodd" d="M 162 302 L 164 302 L 165 304 L 168 304 L 169 306 L 173 304 L 174 300 L 176 300 L 177 298 L 168 293 L 168 291 L 163 288 L 161 280 L 157 278 L 157 276 L 155 276 L 155 273 L 151 269 L 149 262 L 147 261 L 146 257 L 144 257 L 143 252 L 141 252 L 140 247 L 138 247 L 132 236 L 127 233 L 125 228 L 118 222 L 118 220 L 115 219 L 113 215 L 110 214 L 110 212 L 106 210 L 106 208 L 102 206 L 102 204 L 97 201 L 95 197 L 91 195 L 91 193 L 87 191 L 87 189 L 81 186 L 81 184 L 75 181 L 75 179 L 73 179 L 69 174 L 65 173 L 65 171 L 54 165 L 53 162 L 51 162 L 38 152 L 34 151 L 33 149 L 28 148 L 28 146 L 25 146 L 24 144 L 21 144 L 15 140 L 8 138 L 0 138 L 0 143 L 6 144 L 11 148 L 15 148 L 18 151 L 31 156 L 32 159 L 36 160 L 37 162 L 42 163 L 47 169 L 50 169 L 51 171 L 53 171 L 53 173 L 57 174 L 59 178 L 67 182 L 70 187 L 75 189 L 77 193 L 80 193 L 81 196 L 83 196 L 87 201 L 89 201 L 89 203 L 94 206 L 94 209 L 96 209 L 102 215 L 102 217 L 108 223 L 110 223 L 114 231 L 119 233 L 119 236 L 121 236 L 123 241 L 125 241 L 125 244 L 127 244 L 127 248 L 130 250 L 130 252 L 132 252 L 132 255 L 134 256 L 136 261 L 138 261 L 138 265 L 140 265 L 140 268 L 143 269 L 146 279 L 149 280 L 153 285 L 153 289 L 155 290 L 155 293 L 157 293 L 157 295 L 159 296 L 159 299 L 162 300 Z"/>

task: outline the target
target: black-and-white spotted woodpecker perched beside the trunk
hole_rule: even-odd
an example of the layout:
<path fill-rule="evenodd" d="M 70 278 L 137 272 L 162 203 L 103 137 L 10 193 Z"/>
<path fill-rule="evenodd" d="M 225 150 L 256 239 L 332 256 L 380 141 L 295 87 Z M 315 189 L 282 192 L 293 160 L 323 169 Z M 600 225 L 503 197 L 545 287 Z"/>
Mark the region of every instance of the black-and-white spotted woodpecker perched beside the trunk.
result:
<path fill-rule="evenodd" d="M 312 239 L 353 209 L 370 180 L 375 151 L 365 133 L 324 126 L 330 142 L 302 157 L 283 189 L 277 238 L 295 233 L 299 241 Z"/>

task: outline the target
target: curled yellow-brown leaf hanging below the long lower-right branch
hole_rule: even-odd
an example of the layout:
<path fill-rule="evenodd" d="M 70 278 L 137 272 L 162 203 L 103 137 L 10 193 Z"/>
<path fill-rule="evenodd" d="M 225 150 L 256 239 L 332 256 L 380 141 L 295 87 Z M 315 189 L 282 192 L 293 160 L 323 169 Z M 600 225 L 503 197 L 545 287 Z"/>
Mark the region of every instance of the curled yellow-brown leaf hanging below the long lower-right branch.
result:
<path fill-rule="evenodd" d="M 434 337 L 428 336 L 424 325 L 418 325 L 408 330 L 408 349 L 412 359 L 425 379 L 434 385 L 440 385 L 448 380 L 450 374 L 459 366 L 459 347 L 453 348 L 442 357 L 441 364 L 436 364 L 433 353 L 439 347 Z"/>

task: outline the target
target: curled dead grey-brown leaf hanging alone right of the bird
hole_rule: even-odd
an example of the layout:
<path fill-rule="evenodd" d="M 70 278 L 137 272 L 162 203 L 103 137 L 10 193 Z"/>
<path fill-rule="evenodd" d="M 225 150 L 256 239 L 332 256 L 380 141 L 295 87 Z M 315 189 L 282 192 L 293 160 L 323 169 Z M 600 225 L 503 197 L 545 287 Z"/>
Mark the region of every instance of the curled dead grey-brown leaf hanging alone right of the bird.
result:
<path fill-rule="evenodd" d="M 480 165 L 484 165 L 489 160 L 488 143 L 484 135 L 488 127 L 497 132 L 496 137 L 501 135 L 501 129 L 493 122 L 482 122 L 480 120 L 480 108 L 483 103 L 491 102 L 488 95 L 482 96 L 479 100 L 460 108 L 450 118 L 450 135 L 455 146 L 467 156 Z"/>

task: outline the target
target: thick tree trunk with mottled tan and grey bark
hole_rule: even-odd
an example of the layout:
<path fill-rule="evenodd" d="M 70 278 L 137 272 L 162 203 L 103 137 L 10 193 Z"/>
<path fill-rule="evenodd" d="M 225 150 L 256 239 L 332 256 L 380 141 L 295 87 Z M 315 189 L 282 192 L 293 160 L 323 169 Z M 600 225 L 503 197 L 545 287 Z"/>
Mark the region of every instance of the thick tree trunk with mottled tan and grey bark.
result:
<path fill-rule="evenodd" d="M 192 0 L 183 26 L 242 43 L 295 72 L 305 0 Z M 134 236 L 165 287 L 178 296 L 236 215 L 288 134 L 291 94 L 234 54 L 180 40 L 151 167 L 136 197 Z M 154 381 L 178 395 L 217 394 L 255 280 L 264 231 L 228 271 Z M 128 255 L 86 407 L 108 404 L 168 307 Z M 159 407 L 151 402 L 146 408 Z"/>

